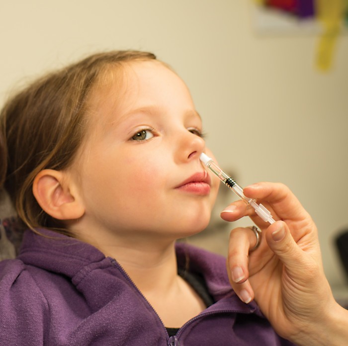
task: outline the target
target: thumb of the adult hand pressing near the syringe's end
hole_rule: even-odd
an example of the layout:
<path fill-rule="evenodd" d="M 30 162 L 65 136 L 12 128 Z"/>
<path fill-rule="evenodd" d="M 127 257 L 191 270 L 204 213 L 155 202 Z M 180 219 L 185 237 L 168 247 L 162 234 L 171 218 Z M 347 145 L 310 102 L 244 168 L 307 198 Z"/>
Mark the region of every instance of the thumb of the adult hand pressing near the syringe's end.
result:
<path fill-rule="evenodd" d="M 292 238 L 285 222 L 277 221 L 269 226 L 266 241 L 270 250 L 277 255 L 289 272 L 298 272 L 303 252 Z"/>

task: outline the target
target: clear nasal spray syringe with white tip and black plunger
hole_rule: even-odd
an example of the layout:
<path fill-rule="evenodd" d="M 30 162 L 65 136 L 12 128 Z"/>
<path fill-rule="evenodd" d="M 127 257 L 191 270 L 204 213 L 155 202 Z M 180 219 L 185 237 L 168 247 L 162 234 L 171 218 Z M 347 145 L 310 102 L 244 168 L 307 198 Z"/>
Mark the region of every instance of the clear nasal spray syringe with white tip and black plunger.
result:
<path fill-rule="evenodd" d="M 225 173 L 212 158 L 202 153 L 199 157 L 200 161 L 209 168 L 227 187 L 229 187 L 233 192 L 235 192 L 239 198 L 243 199 L 248 205 L 252 206 L 256 213 L 261 217 L 265 222 L 272 224 L 275 222 L 272 218 L 270 212 L 262 205 L 256 203 L 256 200 L 253 198 L 248 198 L 244 195 L 243 189 L 239 186 L 236 181 L 234 181 L 227 173 Z"/>

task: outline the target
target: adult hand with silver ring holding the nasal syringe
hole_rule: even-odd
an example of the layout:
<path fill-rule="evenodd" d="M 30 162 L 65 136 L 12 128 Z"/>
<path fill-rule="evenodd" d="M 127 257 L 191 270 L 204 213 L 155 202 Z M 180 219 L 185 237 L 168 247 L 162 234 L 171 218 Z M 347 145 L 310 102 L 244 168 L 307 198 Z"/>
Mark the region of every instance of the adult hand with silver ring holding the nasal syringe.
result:
<path fill-rule="evenodd" d="M 280 336 L 298 345 L 344 345 L 348 312 L 336 303 L 325 277 L 312 218 L 283 184 L 261 182 L 244 194 L 279 221 L 265 223 L 242 200 L 222 211 L 226 221 L 248 215 L 262 230 L 260 246 L 250 253 L 254 232 L 231 232 L 227 268 L 233 289 L 244 302 L 255 298 Z"/>

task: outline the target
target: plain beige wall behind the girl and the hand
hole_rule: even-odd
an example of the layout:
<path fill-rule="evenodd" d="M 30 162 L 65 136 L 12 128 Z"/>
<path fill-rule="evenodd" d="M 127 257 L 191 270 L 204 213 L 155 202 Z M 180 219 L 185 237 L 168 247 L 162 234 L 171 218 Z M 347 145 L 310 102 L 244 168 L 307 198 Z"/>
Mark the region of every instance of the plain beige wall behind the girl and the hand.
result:
<path fill-rule="evenodd" d="M 24 76 L 86 53 L 155 52 L 190 87 L 221 166 L 242 186 L 282 181 L 297 194 L 317 222 L 327 276 L 340 285 L 333 239 L 348 228 L 348 36 L 332 71 L 319 73 L 316 35 L 260 36 L 250 3 L 1 1 L 0 102 Z"/>

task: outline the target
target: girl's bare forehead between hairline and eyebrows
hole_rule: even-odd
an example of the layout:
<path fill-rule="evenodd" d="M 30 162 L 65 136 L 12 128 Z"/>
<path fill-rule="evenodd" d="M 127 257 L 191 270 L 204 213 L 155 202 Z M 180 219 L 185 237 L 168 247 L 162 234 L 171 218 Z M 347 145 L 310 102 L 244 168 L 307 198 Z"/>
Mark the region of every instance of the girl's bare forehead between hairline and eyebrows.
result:
<path fill-rule="evenodd" d="M 120 109 L 177 99 L 191 100 L 184 82 L 169 67 L 159 61 L 135 61 L 119 68 L 107 69 L 91 94 L 92 113 L 110 116 Z"/>

